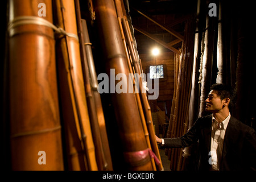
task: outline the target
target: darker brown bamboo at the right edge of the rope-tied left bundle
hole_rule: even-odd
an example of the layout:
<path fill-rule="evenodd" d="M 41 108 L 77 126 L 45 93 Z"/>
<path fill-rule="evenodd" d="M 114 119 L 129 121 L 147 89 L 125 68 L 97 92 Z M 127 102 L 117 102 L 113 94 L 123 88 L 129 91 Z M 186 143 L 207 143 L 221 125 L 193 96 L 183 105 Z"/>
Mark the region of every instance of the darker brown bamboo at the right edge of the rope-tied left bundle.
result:
<path fill-rule="evenodd" d="M 80 53 L 81 53 L 81 63 L 84 73 L 84 82 L 85 82 L 85 93 L 86 101 L 88 103 L 88 113 L 90 118 L 90 123 L 92 127 L 92 135 L 94 139 L 94 144 L 96 148 L 97 164 L 98 169 L 103 170 L 112 170 L 112 160 L 110 156 L 108 136 L 106 135 L 106 128 L 104 120 L 100 121 L 98 118 L 102 119 L 104 116 L 100 110 L 101 103 L 97 104 L 100 100 L 94 99 L 95 92 L 97 90 L 97 76 L 94 68 L 92 50 L 88 47 L 89 35 L 86 26 L 85 20 L 81 19 L 80 13 L 80 3 L 78 0 L 75 0 L 76 5 L 76 18 L 77 18 L 77 28 L 79 32 L 79 42 L 80 42 Z M 90 62 L 89 62 L 90 61 Z M 90 64 L 89 64 L 90 63 Z M 89 69 L 90 66 L 90 69 Z M 94 93 L 93 93 L 94 92 Z M 99 94 L 99 93 L 98 93 Z M 96 96 L 97 97 L 97 96 Z M 97 106 L 97 107 L 96 107 Z M 97 112 L 99 109 L 99 112 Z M 100 122 L 99 122 L 100 121 Z M 100 124 L 101 123 L 101 127 Z"/>

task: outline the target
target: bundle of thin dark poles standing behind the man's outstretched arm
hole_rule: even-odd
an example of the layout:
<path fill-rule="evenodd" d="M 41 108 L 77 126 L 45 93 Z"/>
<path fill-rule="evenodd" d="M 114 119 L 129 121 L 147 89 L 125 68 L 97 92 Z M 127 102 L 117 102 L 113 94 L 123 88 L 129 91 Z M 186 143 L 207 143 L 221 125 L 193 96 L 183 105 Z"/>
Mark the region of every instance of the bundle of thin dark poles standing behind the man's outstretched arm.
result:
<path fill-rule="evenodd" d="M 181 137 L 188 130 L 189 101 L 191 95 L 191 78 L 193 71 L 193 18 L 189 19 L 185 26 L 185 36 L 181 55 L 175 54 L 175 90 L 172 101 L 170 123 L 167 130 L 167 138 Z M 180 171 L 184 169 L 184 155 L 186 151 L 181 148 L 166 150 L 171 160 L 170 169 Z"/>

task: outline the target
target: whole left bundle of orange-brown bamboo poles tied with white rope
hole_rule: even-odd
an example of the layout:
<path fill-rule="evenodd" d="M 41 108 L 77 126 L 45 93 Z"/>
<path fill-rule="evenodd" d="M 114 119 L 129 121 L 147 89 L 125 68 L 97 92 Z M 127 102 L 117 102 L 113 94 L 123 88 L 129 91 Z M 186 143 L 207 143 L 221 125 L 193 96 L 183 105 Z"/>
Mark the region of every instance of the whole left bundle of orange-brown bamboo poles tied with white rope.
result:
<path fill-rule="evenodd" d="M 11 167 L 112 170 L 79 1 L 46 0 L 40 6 L 38 1 L 9 2 Z"/>

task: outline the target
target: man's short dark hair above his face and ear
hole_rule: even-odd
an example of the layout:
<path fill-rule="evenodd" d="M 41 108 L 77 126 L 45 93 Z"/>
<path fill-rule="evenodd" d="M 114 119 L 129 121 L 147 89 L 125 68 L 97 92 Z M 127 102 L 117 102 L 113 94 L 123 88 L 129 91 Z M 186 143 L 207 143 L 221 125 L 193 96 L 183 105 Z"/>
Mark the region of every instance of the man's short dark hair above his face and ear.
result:
<path fill-rule="evenodd" d="M 210 90 L 216 90 L 218 92 L 218 96 L 220 96 L 221 100 L 224 98 L 229 98 L 229 109 L 236 102 L 236 90 L 232 88 L 232 86 L 225 84 L 213 84 L 210 87 Z"/>

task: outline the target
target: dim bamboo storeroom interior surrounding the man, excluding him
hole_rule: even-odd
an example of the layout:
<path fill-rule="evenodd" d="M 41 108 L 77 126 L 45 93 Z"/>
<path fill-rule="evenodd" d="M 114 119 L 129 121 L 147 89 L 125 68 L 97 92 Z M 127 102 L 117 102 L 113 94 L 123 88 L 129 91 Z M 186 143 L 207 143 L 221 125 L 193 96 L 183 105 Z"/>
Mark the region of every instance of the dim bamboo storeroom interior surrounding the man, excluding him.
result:
<path fill-rule="evenodd" d="M 5 0 L 1 15 L 7 170 L 195 171 L 196 145 L 155 135 L 208 115 L 214 83 L 236 88 L 230 113 L 256 129 L 249 1 Z"/>

